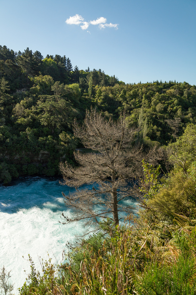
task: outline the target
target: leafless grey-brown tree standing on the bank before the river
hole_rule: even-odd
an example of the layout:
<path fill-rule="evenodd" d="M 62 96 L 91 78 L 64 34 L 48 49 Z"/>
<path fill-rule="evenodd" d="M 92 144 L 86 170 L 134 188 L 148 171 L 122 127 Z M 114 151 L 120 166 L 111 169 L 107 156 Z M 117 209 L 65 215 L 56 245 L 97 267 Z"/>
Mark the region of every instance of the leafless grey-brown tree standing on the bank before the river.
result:
<path fill-rule="evenodd" d="M 91 109 L 86 112 L 84 124 L 74 121 L 74 135 L 91 153 L 77 151 L 74 157 L 79 163 L 73 168 L 67 162 L 60 163 L 64 184 L 76 188 L 65 196 L 66 206 L 74 209 L 72 219 L 64 214 L 64 224 L 85 220 L 88 225 L 113 215 L 113 222 L 133 212 L 132 206 L 122 204 L 130 196 L 129 181 L 141 171 L 142 147 L 136 145 L 137 128 L 130 129 L 125 115 L 119 120 L 107 121 L 102 114 Z M 88 189 L 79 189 L 89 184 Z"/>

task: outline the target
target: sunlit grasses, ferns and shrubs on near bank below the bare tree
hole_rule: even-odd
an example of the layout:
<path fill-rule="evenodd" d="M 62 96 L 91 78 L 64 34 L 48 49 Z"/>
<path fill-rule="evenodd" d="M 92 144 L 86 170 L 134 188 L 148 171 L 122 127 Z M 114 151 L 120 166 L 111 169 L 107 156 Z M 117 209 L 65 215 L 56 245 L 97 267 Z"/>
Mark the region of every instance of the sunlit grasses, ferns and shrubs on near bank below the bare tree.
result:
<path fill-rule="evenodd" d="M 42 275 L 29 258 L 29 285 L 20 294 L 195 294 L 195 224 L 176 216 L 172 224 L 140 220 L 116 227 L 84 240 L 56 268 L 50 259 L 42 262 Z"/>

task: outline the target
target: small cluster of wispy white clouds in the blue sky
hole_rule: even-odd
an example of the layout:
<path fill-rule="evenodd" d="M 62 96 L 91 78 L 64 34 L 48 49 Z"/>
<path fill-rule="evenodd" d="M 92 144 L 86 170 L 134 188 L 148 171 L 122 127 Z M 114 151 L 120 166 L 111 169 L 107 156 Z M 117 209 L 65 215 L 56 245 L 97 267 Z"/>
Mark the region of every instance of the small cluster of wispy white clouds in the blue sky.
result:
<path fill-rule="evenodd" d="M 81 24 L 82 30 L 87 30 L 89 25 L 98 25 L 99 29 L 114 28 L 118 30 L 118 24 L 112 24 L 111 22 L 107 24 L 107 19 L 105 17 L 98 17 L 97 19 L 90 20 L 89 22 L 85 22 L 82 15 L 76 14 L 73 17 L 69 17 L 66 21 L 66 24 Z M 87 31 L 90 33 L 89 31 Z"/>

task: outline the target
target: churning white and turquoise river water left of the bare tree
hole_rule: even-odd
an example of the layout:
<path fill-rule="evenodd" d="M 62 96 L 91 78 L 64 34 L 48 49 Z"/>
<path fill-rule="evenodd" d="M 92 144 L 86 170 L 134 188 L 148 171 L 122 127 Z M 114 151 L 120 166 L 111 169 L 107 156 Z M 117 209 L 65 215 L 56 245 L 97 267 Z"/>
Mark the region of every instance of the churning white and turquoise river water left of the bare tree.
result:
<path fill-rule="evenodd" d="M 39 258 L 48 258 L 55 264 L 62 260 L 66 242 L 83 231 L 82 223 L 63 225 L 61 214 L 71 216 L 66 210 L 65 195 L 73 191 L 62 186 L 57 179 L 40 177 L 22 178 L 11 186 L 0 187 L 0 268 L 11 270 L 10 282 L 14 293 L 30 273 L 28 254 L 39 265 Z M 22 258 L 24 256 L 24 259 Z M 26 274 L 24 272 L 26 270 Z"/>

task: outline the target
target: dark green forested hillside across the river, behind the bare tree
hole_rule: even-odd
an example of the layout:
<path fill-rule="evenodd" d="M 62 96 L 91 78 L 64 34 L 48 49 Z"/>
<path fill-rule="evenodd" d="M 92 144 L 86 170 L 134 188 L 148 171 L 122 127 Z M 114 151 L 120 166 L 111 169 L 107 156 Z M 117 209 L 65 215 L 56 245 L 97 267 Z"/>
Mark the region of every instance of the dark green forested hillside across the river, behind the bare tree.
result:
<path fill-rule="evenodd" d="M 65 55 L 0 46 L 0 181 L 59 173 L 81 144 L 72 121 L 86 109 L 117 119 L 126 111 L 144 145 L 165 145 L 196 120 L 196 86 L 176 81 L 127 84 L 101 69 L 79 70 Z"/>

